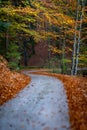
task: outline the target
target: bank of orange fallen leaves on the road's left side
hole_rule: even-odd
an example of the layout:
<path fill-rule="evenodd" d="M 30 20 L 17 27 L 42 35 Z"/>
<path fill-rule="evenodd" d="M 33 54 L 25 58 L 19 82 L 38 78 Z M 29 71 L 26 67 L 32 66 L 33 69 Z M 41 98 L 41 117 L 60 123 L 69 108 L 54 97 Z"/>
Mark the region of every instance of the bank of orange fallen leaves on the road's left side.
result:
<path fill-rule="evenodd" d="M 12 72 L 7 61 L 0 56 L 0 105 L 13 98 L 31 80 L 30 77 Z"/>

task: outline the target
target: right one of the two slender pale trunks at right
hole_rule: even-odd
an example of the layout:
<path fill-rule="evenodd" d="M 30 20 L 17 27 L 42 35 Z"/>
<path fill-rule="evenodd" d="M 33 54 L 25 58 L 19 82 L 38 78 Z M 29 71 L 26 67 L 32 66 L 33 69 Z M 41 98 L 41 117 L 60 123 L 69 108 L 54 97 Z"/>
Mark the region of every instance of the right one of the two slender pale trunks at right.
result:
<path fill-rule="evenodd" d="M 78 35 L 78 43 L 77 43 L 77 51 L 76 51 L 76 65 L 75 65 L 74 75 L 77 75 L 77 70 L 78 70 L 78 59 L 79 59 L 79 50 L 80 50 L 80 42 L 81 42 L 83 11 L 84 11 L 84 5 L 83 5 L 83 1 L 82 1 L 82 11 L 81 11 L 81 16 L 80 16 L 80 27 L 79 27 L 79 35 Z"/>

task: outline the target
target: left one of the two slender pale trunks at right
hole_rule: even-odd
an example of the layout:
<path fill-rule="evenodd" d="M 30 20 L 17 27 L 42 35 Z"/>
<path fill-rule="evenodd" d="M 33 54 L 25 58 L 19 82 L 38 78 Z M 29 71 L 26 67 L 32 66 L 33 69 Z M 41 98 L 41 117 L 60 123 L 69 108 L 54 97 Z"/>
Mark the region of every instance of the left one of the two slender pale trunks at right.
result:
<path fill-rule="evenodd" d="M 78 28 L 78 15 L 79 15 L 79 0 L 77 2 L 77 10 L 76 10 L 76 23 L 75 23 L 75 34 L 74 34 L 74 44 L 73 44 L 73 54 L 72 54 L 72 67 L 71 67 L 71 75 L 74 75 L 75 71 L 75 59 L 76 59 L 76 43 L 77 43 L 77 28 Z"/>

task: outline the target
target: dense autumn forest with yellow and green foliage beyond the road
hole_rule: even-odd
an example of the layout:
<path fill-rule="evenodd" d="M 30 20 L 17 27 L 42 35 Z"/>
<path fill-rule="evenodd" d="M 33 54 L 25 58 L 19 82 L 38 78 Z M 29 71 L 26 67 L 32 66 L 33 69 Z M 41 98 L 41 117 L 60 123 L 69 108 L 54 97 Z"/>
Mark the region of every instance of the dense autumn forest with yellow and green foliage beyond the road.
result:
<path fill-rule="evenodd" d="M 86 0 L 0 0 L 0 55 L 11 69 L 29 66 L 42 42 L 48 56 L 39 67 L 77 75 L 86 69 L 86 34 Z"/>

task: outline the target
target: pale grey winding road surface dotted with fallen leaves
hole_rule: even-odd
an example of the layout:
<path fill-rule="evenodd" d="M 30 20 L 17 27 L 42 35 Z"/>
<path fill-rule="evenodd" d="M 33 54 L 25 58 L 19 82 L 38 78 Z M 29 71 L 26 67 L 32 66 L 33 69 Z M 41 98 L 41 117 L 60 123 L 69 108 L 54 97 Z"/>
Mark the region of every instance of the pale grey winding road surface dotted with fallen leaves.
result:
<path fill-rule="evenodd" d="M 70 130 L 63 84 L 53 77 L 25 73 L 31 83 L 0 106 L 0 130 Z"/>

